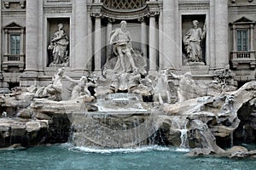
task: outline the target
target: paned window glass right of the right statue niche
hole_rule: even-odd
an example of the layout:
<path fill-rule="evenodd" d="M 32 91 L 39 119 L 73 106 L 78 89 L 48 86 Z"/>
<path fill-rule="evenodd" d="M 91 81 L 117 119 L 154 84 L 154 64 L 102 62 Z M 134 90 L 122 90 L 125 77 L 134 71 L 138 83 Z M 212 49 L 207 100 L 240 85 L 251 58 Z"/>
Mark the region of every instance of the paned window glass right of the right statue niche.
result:
<path fill-rule="evenodd" d="M 247 30 L 237 30 L 237 51 L 248 51 Z"/>

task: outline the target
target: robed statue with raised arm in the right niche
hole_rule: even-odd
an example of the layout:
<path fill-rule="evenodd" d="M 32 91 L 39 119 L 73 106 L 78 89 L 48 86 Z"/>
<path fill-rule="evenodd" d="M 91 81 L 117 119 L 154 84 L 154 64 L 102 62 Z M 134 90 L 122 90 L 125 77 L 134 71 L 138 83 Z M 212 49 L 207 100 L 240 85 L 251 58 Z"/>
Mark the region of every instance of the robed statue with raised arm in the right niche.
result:
<path fill-rule="evenodd" d="M 194 27 L 190 28 L 183 37 L 183 43 L 187 54 L 185 63 L 203 62 L 201 41 L 206 36 L 206 22 L 203 26 L 203 29 L 198 27 L 199 22 L 197 20 L 193 20 L 192 23 Z"/>

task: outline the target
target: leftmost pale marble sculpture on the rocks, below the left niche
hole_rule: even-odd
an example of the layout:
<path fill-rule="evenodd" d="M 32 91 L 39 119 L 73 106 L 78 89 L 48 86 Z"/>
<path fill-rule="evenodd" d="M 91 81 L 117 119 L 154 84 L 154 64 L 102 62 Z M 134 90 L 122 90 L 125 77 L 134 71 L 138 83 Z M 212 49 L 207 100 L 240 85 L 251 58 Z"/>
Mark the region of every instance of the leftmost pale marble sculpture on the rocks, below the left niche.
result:
<path fill-rule="evenodd" d="M 52 83 L 49 84 L 46 88 L 39 89 L 36 94 L 39 94 L 39 91 L 43 91 L 43 97 L 48 97 L 52 100 L 61 100 L 61 92 L 62 92 L 62 79 L 64 74 L 65 68 L 60 68 L 56 73 L 55 76 L 52 77 Z"/>

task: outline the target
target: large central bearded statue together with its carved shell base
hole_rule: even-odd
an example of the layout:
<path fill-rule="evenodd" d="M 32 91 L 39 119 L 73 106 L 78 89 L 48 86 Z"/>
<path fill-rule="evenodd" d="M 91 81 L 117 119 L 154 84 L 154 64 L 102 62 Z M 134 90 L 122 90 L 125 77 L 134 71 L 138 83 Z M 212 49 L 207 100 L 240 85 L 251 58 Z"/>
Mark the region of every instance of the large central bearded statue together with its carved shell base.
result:
<path fill-rule="evenodd" d="M 113 30 L 109 42 L 113 47 L 113 54 L 108 57 L 102 75 L 107 78 L 112 93 L 129 91 L 131 82 L 147 73 L 146 58 L 131 46 L 131 34 L 127 30 L 127 23 L 122 20 L 120 28 Z"/>

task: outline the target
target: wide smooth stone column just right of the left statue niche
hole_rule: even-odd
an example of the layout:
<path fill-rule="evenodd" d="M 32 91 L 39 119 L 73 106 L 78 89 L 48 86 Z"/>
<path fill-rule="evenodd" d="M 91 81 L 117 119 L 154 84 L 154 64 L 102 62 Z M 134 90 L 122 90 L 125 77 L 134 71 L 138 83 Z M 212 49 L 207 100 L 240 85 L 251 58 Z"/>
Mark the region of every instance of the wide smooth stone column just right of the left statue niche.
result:
<path fill-rule="evenodd" d="M 74 69 L 83 71 L 90 58 L 87 54 L 87 5 L 84 0 L 75 0 L 75 59 Z M 72 49 L 71 49 L 72 50 Z M 72 56 L 70 56 L 72 57 Z M 73 65 L 72 65 L 73 66 Z"/>

